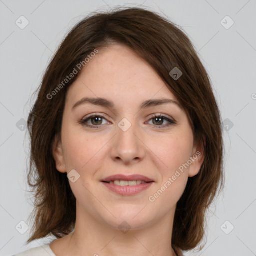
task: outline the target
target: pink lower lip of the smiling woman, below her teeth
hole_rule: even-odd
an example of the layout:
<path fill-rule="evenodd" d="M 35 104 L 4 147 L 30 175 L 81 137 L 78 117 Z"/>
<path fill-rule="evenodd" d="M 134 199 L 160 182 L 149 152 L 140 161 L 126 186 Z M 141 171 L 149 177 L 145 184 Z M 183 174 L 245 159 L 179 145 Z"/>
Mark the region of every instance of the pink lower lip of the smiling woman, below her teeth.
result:
<path fill-rule="evenodd" d="M 121 194 L 121 195 L 133 195 L 146 190 L 153 182 L 148 182 L 144 184 L 139 184 L 135 186 L 118 186 L 115 184 L 109 184 L 107 182 L 102 182 L 111 191 Z"/>

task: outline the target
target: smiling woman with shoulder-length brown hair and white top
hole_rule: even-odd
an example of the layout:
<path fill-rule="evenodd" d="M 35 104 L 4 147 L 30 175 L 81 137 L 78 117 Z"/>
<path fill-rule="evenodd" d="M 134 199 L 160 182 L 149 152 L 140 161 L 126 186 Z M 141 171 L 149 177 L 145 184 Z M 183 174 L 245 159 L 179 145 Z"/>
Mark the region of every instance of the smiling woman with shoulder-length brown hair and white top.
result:
<path fill-rule="evenodd" d="M 220 112 L 177 25 L 92 13 L 51 60 L 28 118 L 29 255 L 182 255 L 222 187 Z"/>

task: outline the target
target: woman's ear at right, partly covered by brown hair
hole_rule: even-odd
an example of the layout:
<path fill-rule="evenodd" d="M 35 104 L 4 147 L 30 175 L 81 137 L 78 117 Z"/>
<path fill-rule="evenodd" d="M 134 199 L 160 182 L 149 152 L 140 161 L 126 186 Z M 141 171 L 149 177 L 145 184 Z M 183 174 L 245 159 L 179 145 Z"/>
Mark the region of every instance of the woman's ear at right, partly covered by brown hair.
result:
<path fill-rule="evenodd" d="M 204 140 L 204 145 L 206 145 L 205 140 Z M 190 160 L 192 163 L 189 166 L 189 172 L 188 172 L 189 177 L 193 177 L 199 173 L 202 163 L 204 161 L 204 158 L 205 158 L 204 147 L 199 142 L 198 145 L 195 145 L 192 150 L 192 154 L 190 157 Z"/>

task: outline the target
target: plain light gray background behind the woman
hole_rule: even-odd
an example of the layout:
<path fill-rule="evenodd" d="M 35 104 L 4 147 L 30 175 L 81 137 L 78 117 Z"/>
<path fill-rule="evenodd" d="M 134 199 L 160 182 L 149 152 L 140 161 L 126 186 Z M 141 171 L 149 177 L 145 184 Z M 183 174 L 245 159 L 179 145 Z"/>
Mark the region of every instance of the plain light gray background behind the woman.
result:
<path fill-rule="evenodd" d="M 255 0 L 0 0 L 0 255 L 49 241 L 25 246 L 29 230 L 21 234 L 26 229 L 20 221 L 28 223 L 32 210 L 24 176 L 29 144 L 22 125 L 50 57 L 66 32 L 91 11 L 140 4 L 183 27 L 209 72 L 225 125 L 225 189 L 208 214 L 205 247 L 185 255 L 256 255 Z M 21 15 L 29 21 L 23 29 Z"/>

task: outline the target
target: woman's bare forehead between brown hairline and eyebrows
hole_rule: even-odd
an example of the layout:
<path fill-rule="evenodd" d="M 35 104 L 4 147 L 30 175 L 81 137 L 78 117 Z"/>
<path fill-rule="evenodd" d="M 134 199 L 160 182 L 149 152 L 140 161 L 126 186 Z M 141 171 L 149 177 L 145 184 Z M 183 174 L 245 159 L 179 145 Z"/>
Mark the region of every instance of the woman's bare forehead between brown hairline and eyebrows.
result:
<path fill-rule="evenodd" d="M 99 49 L 83 67 L 68 90 L 68 98 L 75 103 L 84 96 L 133 105 L 154 97 L 177 100 L 144 59 L 120 44 Z"/>

